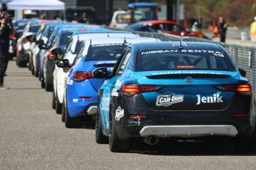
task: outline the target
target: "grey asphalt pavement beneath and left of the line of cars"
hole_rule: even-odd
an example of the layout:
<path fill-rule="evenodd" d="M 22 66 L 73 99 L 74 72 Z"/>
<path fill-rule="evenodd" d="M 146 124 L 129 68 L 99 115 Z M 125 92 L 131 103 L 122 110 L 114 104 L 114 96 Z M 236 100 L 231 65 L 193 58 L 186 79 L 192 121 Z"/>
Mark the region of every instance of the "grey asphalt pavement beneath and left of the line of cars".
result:
<path fill-rule="evenodd" d="M 112 153 L 95 142 L 94 124 L 67 129 L 27 68 L 10 61 L 0 91 L 0 169 L 256 169 L 256 153 L 237 154 L 230 143 L 197 141 L 133 143 L 131 152 Z"/>

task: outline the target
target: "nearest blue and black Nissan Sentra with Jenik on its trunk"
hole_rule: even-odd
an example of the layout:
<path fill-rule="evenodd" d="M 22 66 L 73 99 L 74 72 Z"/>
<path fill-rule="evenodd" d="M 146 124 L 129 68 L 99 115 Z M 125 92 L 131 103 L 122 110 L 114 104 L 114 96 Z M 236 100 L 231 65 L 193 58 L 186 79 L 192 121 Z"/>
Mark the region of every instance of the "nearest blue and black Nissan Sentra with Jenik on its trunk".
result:
<path fill-rule="evenodd" d="M 246 72 L 218 44 L 131 44 L 98 94 L 96 143 L 127 152 L 132 137 L 155 145 L 160 139 L 227 138 L 238 152 L 256 147 L 255 102 Z"/>

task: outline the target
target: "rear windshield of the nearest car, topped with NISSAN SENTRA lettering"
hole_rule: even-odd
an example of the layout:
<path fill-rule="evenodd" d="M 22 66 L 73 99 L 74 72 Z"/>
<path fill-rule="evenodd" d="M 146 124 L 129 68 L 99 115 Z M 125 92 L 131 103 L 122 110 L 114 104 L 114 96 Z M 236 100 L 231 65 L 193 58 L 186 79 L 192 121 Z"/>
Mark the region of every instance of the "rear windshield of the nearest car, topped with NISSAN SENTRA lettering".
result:
<path fill-rule="evenodd" d="M 137 71 L 165 69 L 215 69 L 234 71 L 232 61 L 223 52 L 211 50 L 142 51 L 137 58 Z"/>

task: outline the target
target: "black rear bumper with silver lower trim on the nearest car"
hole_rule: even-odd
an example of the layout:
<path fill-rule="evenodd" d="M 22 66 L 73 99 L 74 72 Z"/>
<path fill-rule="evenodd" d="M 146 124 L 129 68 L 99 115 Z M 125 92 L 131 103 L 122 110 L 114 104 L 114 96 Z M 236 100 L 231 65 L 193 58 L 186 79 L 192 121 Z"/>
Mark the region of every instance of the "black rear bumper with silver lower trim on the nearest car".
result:
<path fill-rule="evenodd" d="M 114 101 L 115 109 L 122 109 L 122 118 L 115 118 L 116 131 L 120 138 L 129 137 L 249 137 L 255 129 L 255 113 L 249 106 L 240 108 L 236 102 L 223 110 L 154 110 L 137 95 Z M 143 102 L 144 101 L 144 102 Z M 244 115 L 236 117 L 235 114 Z M 242 114 L 243 113 L 243 114 Z M 114 113 L 112 113 L 114 114 Z M 144 115 L 134 118 L 131 115 Z"/>

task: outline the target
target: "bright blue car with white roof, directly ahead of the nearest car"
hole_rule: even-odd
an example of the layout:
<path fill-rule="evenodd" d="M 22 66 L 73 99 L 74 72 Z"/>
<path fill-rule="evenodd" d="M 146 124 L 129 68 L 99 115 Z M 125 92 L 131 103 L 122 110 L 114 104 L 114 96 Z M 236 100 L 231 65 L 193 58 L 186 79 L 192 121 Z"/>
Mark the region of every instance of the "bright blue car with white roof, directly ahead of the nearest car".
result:
<path fill-rule="evenodd" d="M 95 118 L 97 112 L 97 91 L 105 79 L 93 78 L 94 69 L 104 67 L 111 72 L 122 51 L 129 44 L 142 41 L 159 41 L 157 38 L 128 37 L 133 34 L 119 34 L 119 37 L 87 38 L 77 52 L 73 66 L 68 72 L 64 90 L 65 126 L 79 128 L 85 116 Z M 126 38 L 125 38 L 126 36 Z M 67 65 L 68 61 L 66 62 Z"/>

